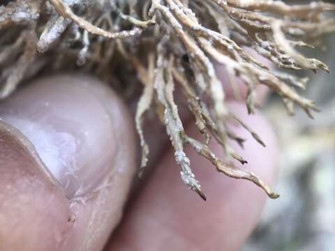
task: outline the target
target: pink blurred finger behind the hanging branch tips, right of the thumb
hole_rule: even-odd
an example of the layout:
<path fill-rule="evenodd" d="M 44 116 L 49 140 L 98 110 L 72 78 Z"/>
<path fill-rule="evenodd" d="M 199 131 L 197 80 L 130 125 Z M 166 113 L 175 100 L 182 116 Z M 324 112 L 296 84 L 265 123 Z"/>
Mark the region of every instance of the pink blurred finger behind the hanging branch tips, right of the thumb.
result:
<path fill-rule="evenodd" d="M 260 114 L 246 116 L 243 105 L 234 103 L 230 107 L 244 122 L 260 131 L 267 142 L 265 149 L 241 127 L 233 128 L 247 139 L 246 151 L 237 149 L 248 160 L 244 168 L 273 184 L 277 146 L 271 126 Z M 186 132 L 198 137 L 194 125 L 186 128 Z M 216 143 L 211 144 L 211 149 L 218 155 L 222 153 Z M 250 181 L 218 173 L 191 147 L 186 149 L 186 155 L 207 201 L 201 201 L 181 182 L 170 149 L 131 204 L 107 250 L 238 250 L 241 247 L 260 218 L 267 195 Z"/>

